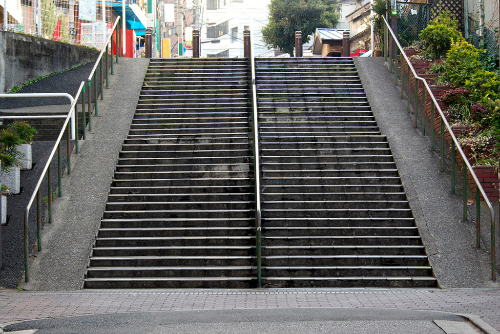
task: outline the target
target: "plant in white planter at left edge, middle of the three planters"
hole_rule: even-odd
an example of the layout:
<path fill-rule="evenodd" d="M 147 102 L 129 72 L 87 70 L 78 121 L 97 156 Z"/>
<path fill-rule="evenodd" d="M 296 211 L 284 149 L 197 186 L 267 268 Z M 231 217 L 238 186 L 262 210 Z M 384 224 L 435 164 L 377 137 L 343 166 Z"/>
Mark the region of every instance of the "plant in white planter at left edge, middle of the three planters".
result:
<path fill-rule="evenodd" d="M 20 168 L 18 166 L 19 151 L 16 146 L 21 139 L 9 128 L 0 132 L 0 160 L 1 160 L 1 183 L 5 184 L 11 191 L 20 192 Z"/>

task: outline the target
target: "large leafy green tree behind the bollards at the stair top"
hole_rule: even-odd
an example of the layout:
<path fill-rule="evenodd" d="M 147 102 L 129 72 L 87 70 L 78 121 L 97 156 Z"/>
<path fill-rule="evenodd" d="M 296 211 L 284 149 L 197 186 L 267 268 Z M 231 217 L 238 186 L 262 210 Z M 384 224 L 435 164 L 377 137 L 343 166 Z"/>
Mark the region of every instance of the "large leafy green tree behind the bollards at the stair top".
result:
<path fill-rule="evenodd" d="M 306 43 L 316 28 L 333 28 L 340 16 L 333 0 L 271 0 L 268 8 L 269 22 L 260 29 L 262 40 L 290 56 L 295 31 L 302 31 L 302 43 Z"/>

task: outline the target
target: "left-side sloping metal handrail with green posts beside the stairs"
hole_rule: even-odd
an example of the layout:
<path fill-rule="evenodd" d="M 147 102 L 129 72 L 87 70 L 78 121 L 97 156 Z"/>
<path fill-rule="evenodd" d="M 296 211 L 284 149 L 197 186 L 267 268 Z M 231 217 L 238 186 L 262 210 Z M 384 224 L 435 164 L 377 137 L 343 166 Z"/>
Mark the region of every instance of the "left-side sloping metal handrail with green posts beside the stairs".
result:
<path fill-rule="evenodd" d="M 116 26 L 120 20 L 120 16 L 116 17 L 116 20 L 114 21 L 114 24 L 112 26 L 111 32 L 109 33 L 106 41 L 105 41 L 105 46 L 102 47 L 99 56 L 97 57 L 97 60 L 95 61 L 94 66 L 92 67 L 92 71 L 89 75 L 89 78 L 87 79 L 87 84 L 90 87 L 90 78 L 94 77 L 94 105 L 95 105 L 95 114 L 97 114 L 97 92 L 96 92 L 96 74 L 95 70 L 97 69 L 97 65 L 100 65 L 100 88 L 101 88 L 101 99 L 103 98 L 103 91 L 102 91 L 102 55 L 105 51 L 105 75 L 106 75 L 106 87 L 108 85 L 107 82 L 107 66 L 108 66 L 108 60 L 107 60 L 107 53 L 108 53 L 108 43 L 111 40 L 111 74 L 112 74 L 112 63 L 113 63 L 113 42 L 112 42 L 112 34 L 116 29 Z M 121 43 L 119 45 L 121 48 Z M 116 62 L 118 62 L 118 48 L 116 50 Z M 90 88 L 88 89 L 90 91 Z M 68 94 L 69 95 L 69 94 Z M 29 199 L 28 204 L 26 205 L 26 209 L 24 210 L 24 281 L 28 282 L 29 281 L 29 241 L 28 241 L 28 218 L 29 218 L 29 210 L 31 209 L 31 205 L 33 205 L 33 201 L 36 198 L 36 221 L 37 221 L 37 228 L 36 228 L 36 234 L 37 234 L 37 249 L 38 251 L 41 250 L 41 202 L 40 202 L 40 186 L 43 181 L 43 178 L 45 177 L 45 174 L 47 174 L 47 209 L 48 209 L 48 222 L 52 222 L 52 171 L 51 171 L 51 166 L 52 166 L 52 158 L 57 151 L 57 178 L 58 178 L 58 196 L 62 196 L 62 165 L 61 165 L 61 154 L 60 154 L 60 141 L 62 136 L 64 135 L 64 131 L 67 131 L 66 135 L 66 150 L 67 150 L 67 173 L 68 175 L 71 173 L 71 160 L 70 160 L 70 142 L 69 142 L 69 128 L 67 126 L 69 119 L 72 114 L 74 114 L 75 118 L 75 152 L 78 153 L 78 119 L 77 119 L 77 108 L 76 104 L 78 103 L 78 97 L 81 95 L 81 113 L 82 113 L 82 139 L 85 139 L 85 82 L 81 81 L 80 86 L 78 87 L 78 90 L 76 92 L 76 95 L 73 98 L 71 107 L 68 111 L 68 114 L 64 120 L 64 124 L 62 125 L 62 128 L 59 132 L 59 135 L 57 136 L 57 139 L 55 140 L 54 147 L 52 148 L 52 151 L 50 152 L 50 155 L 48 157 L 48 160 L 45 164 L 45 167 L 43 168 L 40 178 L 38 179 L 38 182 L 36 183 L 36 186 L 33 190 L 33 193 Z M 90 112 L 90 95 L 88 98 L 88 130 L 91 130 L 91 112 Z"/>

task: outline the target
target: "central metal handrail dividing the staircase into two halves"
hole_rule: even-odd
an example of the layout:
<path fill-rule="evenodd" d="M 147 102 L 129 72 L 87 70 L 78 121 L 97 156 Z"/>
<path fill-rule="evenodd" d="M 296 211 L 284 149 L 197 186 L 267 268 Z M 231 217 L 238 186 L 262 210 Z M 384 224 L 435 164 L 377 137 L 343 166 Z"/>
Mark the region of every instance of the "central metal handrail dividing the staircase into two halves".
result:
<path fill-rule="evenodd" d="M 253 34 L 250 30 L 250 69 L 252 92 L 252 118 L 253 118 L 253 168 L 255 173 L 255 239 L 257 254 L 257 284 L 262 287 L 262 256 L 261 256 L 261 227 L 260 227 L 260 166 L 258 158 L 258 118 L 257 118 L 257 92 L 255 87 L 255 58 L 253 57 Z"/>

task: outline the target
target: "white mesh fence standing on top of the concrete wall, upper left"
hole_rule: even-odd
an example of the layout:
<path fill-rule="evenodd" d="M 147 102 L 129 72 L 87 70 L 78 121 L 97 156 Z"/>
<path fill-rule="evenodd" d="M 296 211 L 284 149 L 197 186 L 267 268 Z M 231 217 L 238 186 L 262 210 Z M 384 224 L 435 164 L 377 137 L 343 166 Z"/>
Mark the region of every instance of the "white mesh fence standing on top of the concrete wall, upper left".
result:
<path fill-rule="evenodd" d="M 112 26 L 111 6 L 97 1 L 96 21 L 78 18 L 75 1 L 21 0 L 20 15 L 4 15 L 4 30 L 101 48 Z M 104 10 L 103 10 L 104 9 Z M 104 15 L 102 14 L 104 12 Z"/>

